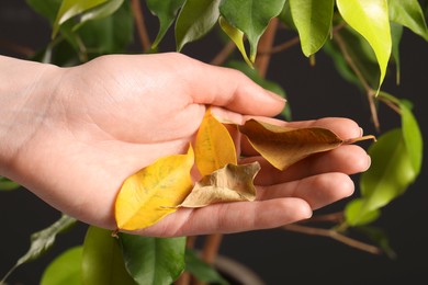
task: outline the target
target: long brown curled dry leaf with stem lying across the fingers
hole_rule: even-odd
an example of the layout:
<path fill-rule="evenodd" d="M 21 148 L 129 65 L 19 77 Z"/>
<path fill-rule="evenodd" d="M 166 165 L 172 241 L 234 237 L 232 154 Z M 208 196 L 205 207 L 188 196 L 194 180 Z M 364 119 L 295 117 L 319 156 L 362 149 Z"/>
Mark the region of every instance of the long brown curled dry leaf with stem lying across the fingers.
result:
<path fill-rule="evenodd" d="M 239 132 L 246 135 L 251 146 L 279 170 L 284 170 L 311 155 L 328 151 L 343 144 L 374 139 L 373 136 L 364 136 L 342 140 L 327 128 L 290 128 L 256 119 L 249 119 L 239 126 Z"/>

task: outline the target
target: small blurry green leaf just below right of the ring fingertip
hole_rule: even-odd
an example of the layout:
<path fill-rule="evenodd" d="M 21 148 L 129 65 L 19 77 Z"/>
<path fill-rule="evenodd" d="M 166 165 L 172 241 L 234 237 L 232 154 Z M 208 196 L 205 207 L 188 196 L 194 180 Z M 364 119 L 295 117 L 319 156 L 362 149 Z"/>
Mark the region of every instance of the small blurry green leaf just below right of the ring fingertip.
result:
<path fill-rule="evenodd" d="M 356 198 L 349 202 L 345 207 L 345 220 L 350 226 L 361 226 L 376 220 L 381 212 L 376 208 L 367 210 L 365 198 Z"/>

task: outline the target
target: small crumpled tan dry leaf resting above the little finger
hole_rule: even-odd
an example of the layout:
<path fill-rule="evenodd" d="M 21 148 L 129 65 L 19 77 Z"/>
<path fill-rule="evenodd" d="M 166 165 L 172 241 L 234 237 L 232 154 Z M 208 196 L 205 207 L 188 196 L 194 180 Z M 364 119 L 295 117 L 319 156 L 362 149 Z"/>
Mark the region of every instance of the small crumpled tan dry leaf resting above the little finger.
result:
<path fill-rule="evenodd" d="M 195 208 L 214 203 L 254 201 L 254 179 L 259 170 L 257 161 L 239 166 L 227 164 L 199 181 L 180 206 Z"/>

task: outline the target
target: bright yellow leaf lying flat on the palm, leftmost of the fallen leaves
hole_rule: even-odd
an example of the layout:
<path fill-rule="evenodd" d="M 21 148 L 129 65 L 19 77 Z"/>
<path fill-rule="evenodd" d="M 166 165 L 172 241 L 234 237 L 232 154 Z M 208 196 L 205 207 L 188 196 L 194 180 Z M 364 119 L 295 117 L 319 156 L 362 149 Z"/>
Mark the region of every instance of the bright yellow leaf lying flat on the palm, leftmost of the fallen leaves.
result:
<path fill-rule="evenodd" d="M 190 147 L 187 155 L 160 158 L 127 178 L 115 201 L 117 228 L 145 228 L 176 212 L 192 190 L 193 163 Z"/>

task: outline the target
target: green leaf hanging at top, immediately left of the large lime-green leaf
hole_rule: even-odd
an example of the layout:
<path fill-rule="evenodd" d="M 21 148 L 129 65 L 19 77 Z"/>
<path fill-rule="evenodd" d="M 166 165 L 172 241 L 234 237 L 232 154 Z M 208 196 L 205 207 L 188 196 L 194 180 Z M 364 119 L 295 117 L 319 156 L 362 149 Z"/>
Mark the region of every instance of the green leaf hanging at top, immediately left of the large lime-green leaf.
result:
<path fill-rule="evenodd" d="M 335 0 L 290 0 L 302 50 L 311 56 L 322 48 L 331 31 Z"/>

